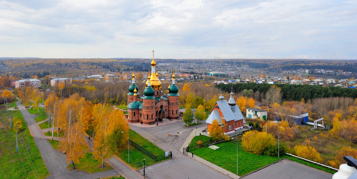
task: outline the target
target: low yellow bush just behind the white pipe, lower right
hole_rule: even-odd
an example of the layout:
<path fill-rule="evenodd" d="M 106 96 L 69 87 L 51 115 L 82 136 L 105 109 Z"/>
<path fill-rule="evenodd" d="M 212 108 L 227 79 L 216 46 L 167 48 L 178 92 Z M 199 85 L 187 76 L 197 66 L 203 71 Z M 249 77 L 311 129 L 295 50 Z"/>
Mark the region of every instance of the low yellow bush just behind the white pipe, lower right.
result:
<path fill-rule="evenodd" d="M 299 157 L 312 160 L 315 162 L 322 162 L 322 158 L 320 153 L 314 147 L 306 146 L 306 145 L 295 145 L 293 149 L 293 153 Z"/>

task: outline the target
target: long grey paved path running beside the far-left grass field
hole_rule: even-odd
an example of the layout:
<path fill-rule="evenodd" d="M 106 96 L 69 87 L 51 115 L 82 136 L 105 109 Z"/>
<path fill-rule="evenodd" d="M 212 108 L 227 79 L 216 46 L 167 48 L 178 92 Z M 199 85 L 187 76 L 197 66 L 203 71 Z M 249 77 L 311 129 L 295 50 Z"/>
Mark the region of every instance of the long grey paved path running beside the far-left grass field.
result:
<path fill-rule="evenodd" d="M 48 142 L 48 138 L 51 139 L 50 136 L 45 136 L 42 133 L 42 130 L 35 121 L 35 115 L 29 113 L 26 108 L 20 103 L 16 102 L 22 116 L 25 119 L 27 126 L 31 132 L 32 137 L 35 140 L 37 148 L 40 151 L 41 157 L 45 162 L 47 170 L 50 173 L 50 176 L 47 178 L 103 178 L 103 177 L 110 177 L 115 175 L 121 175 L 116 169 L 106 170 L 103 172 L 97 172 L 89 174 L 85 171 L 74 170 L 68 171 L 67 170 L 67 162 L 66 162 L 66 155 L 63 153 L 58 152 L 55 150 L 52 145 Z"/>

